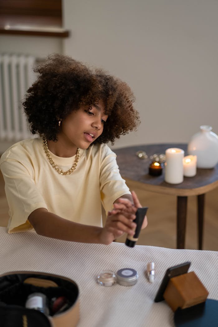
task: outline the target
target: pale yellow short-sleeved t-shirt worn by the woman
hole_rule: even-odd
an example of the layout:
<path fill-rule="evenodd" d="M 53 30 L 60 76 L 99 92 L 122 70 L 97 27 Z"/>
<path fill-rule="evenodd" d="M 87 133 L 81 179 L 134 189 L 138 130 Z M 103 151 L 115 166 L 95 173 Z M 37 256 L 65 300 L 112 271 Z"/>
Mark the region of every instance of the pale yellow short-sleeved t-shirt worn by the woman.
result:
<path fill-rule="evenodd" d="M 64 171 L 75 160 L 75 156 L 50 155 Z M 28 139 L 1 156 L 0 169 L 9 205 L 9 233 L 32 229 L 27 219 L 38 208 L 81 224 L 102 226 L 101 203 L 107 213 L 117 198 L 130 193 L 120 176 L 116 155 L 106 144 L 80 149 L 75 171 L 60 175 L 46 157 L 42 138 Z"/>

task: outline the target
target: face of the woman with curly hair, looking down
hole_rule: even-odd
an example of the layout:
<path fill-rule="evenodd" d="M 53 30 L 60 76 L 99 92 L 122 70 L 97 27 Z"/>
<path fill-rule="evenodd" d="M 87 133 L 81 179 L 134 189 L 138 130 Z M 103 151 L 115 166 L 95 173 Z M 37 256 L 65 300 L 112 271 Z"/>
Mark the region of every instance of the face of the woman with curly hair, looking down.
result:
<path fill-rule="evenodd" d="M 87 149 L 102 134 L 107 118 L 102 100 L 90 107 L 80 107 L 62 120 L 58 141 L 75 147 L 75 151 L 77 147 Z"/>

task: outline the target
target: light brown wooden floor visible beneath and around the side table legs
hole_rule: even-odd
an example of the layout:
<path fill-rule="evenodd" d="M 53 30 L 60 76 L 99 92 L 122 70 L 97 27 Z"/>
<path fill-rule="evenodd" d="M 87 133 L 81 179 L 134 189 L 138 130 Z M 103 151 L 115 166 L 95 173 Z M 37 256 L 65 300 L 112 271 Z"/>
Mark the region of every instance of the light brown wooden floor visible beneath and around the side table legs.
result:
<path fill-rule="evenodd" d="M 148 226 L 140 233 L 137 244 L 176 248 L 176 196 L 134 190 L 143 206 L 148 206 Z M 197 249 L 196 197 L 188 198 L 186 249 Z M 4 180 L 0 172 L 0 226 L 7 226 L 8 203 L 4 191 Z M 125 242 L 126 235 L 117 241 Z M 218 251 L 218 188 L 206 194 L 203 250 Z"/>

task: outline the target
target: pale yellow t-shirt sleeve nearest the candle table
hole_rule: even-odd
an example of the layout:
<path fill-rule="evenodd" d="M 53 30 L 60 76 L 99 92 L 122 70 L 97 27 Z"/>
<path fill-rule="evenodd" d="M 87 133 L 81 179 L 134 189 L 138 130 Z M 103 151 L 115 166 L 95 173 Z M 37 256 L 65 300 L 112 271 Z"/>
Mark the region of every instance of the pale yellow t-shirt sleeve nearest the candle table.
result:
<path fill-rule="evenodd" d="M 108 146 L 105 146 L 101 155 L 100 190 L 106 214 L 112 209 L 117 198 L 131 194 L 125 180 L 120 175 L 116 154 Z"/>

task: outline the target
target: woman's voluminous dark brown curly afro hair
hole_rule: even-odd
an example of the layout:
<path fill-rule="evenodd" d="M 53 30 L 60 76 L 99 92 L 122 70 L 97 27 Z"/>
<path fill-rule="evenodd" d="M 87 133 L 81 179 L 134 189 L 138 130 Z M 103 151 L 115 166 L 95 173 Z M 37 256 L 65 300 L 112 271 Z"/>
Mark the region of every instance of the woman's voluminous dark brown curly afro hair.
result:
<path fill-rule="evenodd" d="M 57 141 L 60 119 L 100 99 L 109 117 L 103 133 L 93 143 L 113 144 L 116 138 L 135 130 L 140 123 L 129 86 L 103 70 L 92 70 L 68 56 L 54 54 L 34 71 L 38 78 L 27 90 L 23 102 L 33 134 Z"/>

